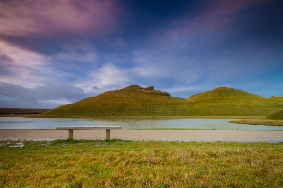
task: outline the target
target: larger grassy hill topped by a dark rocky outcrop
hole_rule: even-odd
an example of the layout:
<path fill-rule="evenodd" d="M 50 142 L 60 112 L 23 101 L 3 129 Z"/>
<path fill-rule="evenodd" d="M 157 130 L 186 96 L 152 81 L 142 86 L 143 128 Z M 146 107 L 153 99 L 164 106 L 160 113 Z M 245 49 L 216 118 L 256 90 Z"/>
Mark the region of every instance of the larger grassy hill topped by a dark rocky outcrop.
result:
<path fill-rule="evenodd" d="M 178 112 L 175 112 L 178 111 L 178 107 L 172 108 L 172 104 L 186 101 L 186 99 L 170 97 L 169 93 L 167 93 L 169 96 L 166 93 L 132 85 L 121 90 L 106 91 L 96 97 L 88 97 L 74 104 L 63 105 L 42 115 L 87 117 L 178 115 Z"/>

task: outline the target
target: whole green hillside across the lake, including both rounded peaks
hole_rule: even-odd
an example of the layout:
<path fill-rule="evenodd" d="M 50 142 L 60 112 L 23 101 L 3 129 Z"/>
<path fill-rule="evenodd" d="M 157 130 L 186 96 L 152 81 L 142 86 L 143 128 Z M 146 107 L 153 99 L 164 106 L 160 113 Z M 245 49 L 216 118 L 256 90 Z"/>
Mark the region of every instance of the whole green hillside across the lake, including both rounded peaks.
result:
<path fill-rule="evenodd" d="M 227 87 L 199 93 L 190 100 L 162 95 L 167 94 L 152 86 L 132 85 L 60 106 L 41 117 L 266 116 L 283 108 L 283 100 Z"/>

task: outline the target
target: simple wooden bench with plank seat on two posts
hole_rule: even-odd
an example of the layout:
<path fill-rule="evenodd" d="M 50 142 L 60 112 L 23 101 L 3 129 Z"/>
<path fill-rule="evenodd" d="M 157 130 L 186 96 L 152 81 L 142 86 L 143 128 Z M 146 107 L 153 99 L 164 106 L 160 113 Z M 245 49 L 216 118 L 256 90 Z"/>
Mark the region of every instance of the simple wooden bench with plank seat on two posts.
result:
<path fill-rule="evenodd" d="M 111 129 L 121 129 L 120 126 L 84 126 L 84 127 L 57 127 L 56 130 L 69 130 L 69 139 L 73 139 L 74 130 L 100 130 L 106 129 L 106 137 L 105 139 L 110 139 L 110 130 Z"/>

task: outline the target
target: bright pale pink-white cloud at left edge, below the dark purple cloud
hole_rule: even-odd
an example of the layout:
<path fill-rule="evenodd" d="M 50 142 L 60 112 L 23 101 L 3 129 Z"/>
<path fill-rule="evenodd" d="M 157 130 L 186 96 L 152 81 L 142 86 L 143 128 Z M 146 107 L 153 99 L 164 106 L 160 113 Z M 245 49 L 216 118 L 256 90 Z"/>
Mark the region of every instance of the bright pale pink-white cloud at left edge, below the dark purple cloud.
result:
<path fill-rule="evenodd" d="M 52 74 L 48 67 L 48 57 L 8 45 L 0 41 L 2 71 L 0 81 L 25 87 L 40 85 L 47 75 Z"/>

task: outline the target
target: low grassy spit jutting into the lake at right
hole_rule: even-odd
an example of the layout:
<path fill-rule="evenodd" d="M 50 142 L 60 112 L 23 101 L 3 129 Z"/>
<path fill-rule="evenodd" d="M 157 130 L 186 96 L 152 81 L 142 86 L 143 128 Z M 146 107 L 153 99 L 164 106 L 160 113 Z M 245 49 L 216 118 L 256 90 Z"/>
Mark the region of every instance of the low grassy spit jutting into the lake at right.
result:
<path fill-rule="evenodd" d="M 283 126 L 283 120 L 275 120 L 275 119 L 235 119 L 229 122 L 239 123 L 239 124 L 250 124 L 250 125 Z"/>

